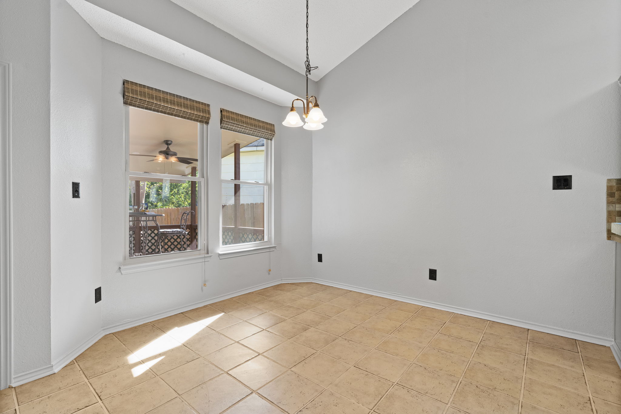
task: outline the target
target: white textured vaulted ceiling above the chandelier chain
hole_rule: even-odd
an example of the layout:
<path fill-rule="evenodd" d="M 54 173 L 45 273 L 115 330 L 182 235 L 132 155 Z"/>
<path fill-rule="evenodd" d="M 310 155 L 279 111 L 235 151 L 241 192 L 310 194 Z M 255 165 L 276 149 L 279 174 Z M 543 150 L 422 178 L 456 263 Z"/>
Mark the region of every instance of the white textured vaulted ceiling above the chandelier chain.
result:
<path fill-rule="evenodd" d="M 304 73 L 304 0 L 171 0 L 290 68 Z M 311 78 L 319 80 L 418 0 L 312 0 Z"/>

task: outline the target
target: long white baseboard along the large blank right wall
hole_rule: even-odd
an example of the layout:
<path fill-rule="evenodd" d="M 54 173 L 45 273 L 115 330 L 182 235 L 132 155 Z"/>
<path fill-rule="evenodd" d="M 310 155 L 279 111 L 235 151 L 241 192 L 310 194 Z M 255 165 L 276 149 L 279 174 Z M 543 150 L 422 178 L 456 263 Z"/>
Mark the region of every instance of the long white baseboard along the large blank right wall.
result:
<path fill-rule="evenodd" d="M 430 308 L 446 310 L 448 312 L 460 313 L 461 315 L 468 315 L 468 316 L 475 317 L 475 318 L 481 318 L 481 319 L 486 319 L 486 320 L 492 320 L 494 322 L 506 323 L 507 325 L 521 326 L 522 328 L 551 333 L 553 335 L 566 336 L 567 338 L 573 338 L 573 339 L 580 340 L 580 341 L 591 342 L 591 343 L 596 343 L 596 344 L 605 345 L 605 346 L 612 346 L 612 338 L 604 338 L 603 336 L 595 336 L 595 335 L 589 335 L 587 333 L 564 330 L 561 328 L 555 328 L 553 326 L 540 325 L 538 323 L 527 322 L 524 320 L 501 317 L 498 315 L 492 315 L 491 313 L 479 312 L 477 310 L 465 309 L 465 308 L 460 308 L 460 307 L 445 305 L 445 304 L 438 304 L 437 302 L 431 302 L 429 300 L 415 299 L 412 297 L 407 297 L 407 296 L 399 295 L 395 293 L 380 292 L 379 290 L 372 290 L 372 289 L 366 289 L 364 287 L 351 286 L 351 285 L 344 284 L 344 283 L 325 281 L 323 279 L 313 279 L 312 281 L 320 283 L 320 284 L 328 285 L 328 286 L 340 287 L 342 289 L 356 290 L 356 292 L 362 292 L 362 293 L 366 293 L 369 295 L 376 295 L 376 296 L 386 297 L 388 299 L 401 300 L 401 302 L 408 302 L 410 304 L 422 305 L 422 306 L 426 306 Z"/>

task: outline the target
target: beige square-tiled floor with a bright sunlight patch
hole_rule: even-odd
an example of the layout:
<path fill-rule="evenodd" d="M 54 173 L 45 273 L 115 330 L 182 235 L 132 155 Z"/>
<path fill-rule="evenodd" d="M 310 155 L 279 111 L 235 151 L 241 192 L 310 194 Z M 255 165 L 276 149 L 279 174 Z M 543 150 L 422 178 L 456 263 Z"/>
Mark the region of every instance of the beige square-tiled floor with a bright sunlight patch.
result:
<path fill-rule="evenodd" d="M 17 405 L 16 405 L 17 404 Z M 6 414 L 613 414 L 610 348 L 315 283 L 106 335 Z"/>

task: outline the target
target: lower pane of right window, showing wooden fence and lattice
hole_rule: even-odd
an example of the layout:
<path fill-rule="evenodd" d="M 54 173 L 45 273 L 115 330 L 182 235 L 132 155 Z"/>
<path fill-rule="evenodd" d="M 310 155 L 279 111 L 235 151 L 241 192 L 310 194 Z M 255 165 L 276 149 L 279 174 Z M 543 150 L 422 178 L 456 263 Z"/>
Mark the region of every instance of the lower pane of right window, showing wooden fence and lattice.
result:
<path fill-rule="evenodd" d="M 266 187 L 222 183 L 222 245 L 264 240 Z"/>

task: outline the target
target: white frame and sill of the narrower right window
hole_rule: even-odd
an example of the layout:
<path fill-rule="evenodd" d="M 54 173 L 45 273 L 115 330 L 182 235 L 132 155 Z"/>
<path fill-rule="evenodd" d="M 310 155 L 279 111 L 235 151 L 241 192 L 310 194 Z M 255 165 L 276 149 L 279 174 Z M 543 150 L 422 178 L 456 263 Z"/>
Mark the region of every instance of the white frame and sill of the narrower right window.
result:
<path fill-rule="evenodd" d="M 222 140 L 220 140 L 222 142 Z M 242 243 L 239 245 L 222 245 L 222 210 L 220 210 L 220 232 L 219 232 L 219 249 L 218 257 L 220 259 L 245 256 L 246 254 L 263 253 L 264 251 L 276 250 L 273 237 L 273 147 L 272 140 L 265 140 L 265 182 L 241 181 L 232 179 L 222 179 L 222 161 L 220 161 L 220 205 L 222 204 L 222 184 L 248 184 L 251 186 L 263 186 L 267 189 L 267 196 L 263 193 L 263 241 L 255 243 Z M 221 160 L 221 159 L 220 159 Z"/>

